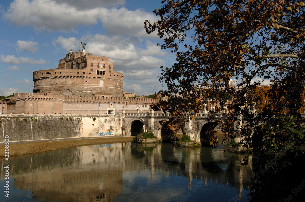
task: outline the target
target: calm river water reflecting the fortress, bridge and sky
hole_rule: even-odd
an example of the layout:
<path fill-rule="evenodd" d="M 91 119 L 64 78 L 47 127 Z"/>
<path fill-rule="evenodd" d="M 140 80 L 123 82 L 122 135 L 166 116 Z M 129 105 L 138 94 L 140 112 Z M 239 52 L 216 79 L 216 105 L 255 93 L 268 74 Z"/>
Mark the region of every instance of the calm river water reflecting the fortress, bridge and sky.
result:
<path fill-rule="evenodd" d="M 116 143 L 9 160 L 9 198 L 0 201 L 247 201 L 251 165 L 223 147 Z"/>

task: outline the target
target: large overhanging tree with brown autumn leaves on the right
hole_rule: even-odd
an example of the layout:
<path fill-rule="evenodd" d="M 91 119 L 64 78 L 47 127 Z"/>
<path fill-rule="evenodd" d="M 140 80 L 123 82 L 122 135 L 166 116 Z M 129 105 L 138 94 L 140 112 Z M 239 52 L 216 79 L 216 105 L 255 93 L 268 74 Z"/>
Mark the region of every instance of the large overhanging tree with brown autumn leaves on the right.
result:
<path fill-rule="evenodd" d="M 222 143 L 240 134 L 248 138 L 244 144 L 253 149 L 253 145 L 264 140 L 264 135 L 255 132 L 256 126 L 276 122 L 287 114 L 294 115 L 298 123 L 303 121 L 300 116 L 305 79 L 303 2 L 163 0 L 162 3 L 162 8 L 154 10 L 160 20 L 147 20 L 145 29 L 163 38 L 161 47 L 176 56 L 171 67 L 161 66 L 160 80 L 167 84 L 168 90 L 160 92 L 163 99 L 152 105 L 171 113 L 168 129 L 177 130 L 185 120 L 192 119 L 206 99 L 220 103 L 213 113 L 221 112 L 228 104 L 230 113 L 219 122 L 225 134 Z M 229 85 L 230 79 L 237 83 L 236 88 Z M 272 82 L 268 90 L 270 103 L 254 115 L 250 109 L 256 101 L 249 94 L 264 80 Z M 213 113 L 209 120 L 213 120 Z M 232 128 L 240 115 L 243 118 L 240 129 Z M 212 146 L 217 146 L 215 138 L 210 140 Z M 274 144 L 268 144 L 275 150 Z M 256 155 L 257 151 L 255 148 L 253 153 Z M 257 155 L 261 160 L 269 157 Z M 270 179 L 264 180 L 268 184 Z M 290 189 L 298 185 L 290 183 L 283 187 Z M 282 192 L 280 187 L 276 193 Z M 260 195 L 255 184 L 252 191 L 251 197 Z"/>

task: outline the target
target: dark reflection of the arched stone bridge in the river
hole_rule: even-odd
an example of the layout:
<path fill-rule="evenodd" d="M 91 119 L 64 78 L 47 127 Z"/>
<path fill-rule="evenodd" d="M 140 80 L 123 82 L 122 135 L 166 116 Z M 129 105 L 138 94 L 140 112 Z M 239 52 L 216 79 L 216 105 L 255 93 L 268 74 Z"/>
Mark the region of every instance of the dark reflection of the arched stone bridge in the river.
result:
<path fill-rule="evenodd" d="M 244 158 L 241 154 L 227 154 L 225 157 L 223 150 L 219 148 L 181 148 L 173 147 L 168 143 L 157 145 L 152 152 L 144 152 L 143 146 L 132 150 L 136 150 L 134 158 L 145 165 L 148 164 L 152 171 L 165 171 L 185 176 L 188 178 L 189 187 L 194 177 L 218 179 L 224 183 L 229 176 L 231 179 L 229 183 L 241 190 L 243 186 L 251 185 L 252 170 L 250 166 L 240 166 L 239 161 Z"/>

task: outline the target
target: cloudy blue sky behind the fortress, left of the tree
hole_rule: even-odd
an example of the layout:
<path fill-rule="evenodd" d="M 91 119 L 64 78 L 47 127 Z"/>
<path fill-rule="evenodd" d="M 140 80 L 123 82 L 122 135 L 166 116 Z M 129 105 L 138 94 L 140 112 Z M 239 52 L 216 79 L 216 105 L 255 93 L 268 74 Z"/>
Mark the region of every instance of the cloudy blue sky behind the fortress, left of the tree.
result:
<path fill-rule="evenodd" d="M 161 0 L 2 0 L 0 32 L 0 95 L 33 92 L 33 71 L 57 68 L 70 48 L 109 57 L 124 74 L 123 90 L 137 95 L 158 92 L 160 65 L 174 56 L 147 35 L 144 21 Z M 164 84 L 163 84 L 164 85 Z M 164 85 L 165 86 L 165 85 Z"/>

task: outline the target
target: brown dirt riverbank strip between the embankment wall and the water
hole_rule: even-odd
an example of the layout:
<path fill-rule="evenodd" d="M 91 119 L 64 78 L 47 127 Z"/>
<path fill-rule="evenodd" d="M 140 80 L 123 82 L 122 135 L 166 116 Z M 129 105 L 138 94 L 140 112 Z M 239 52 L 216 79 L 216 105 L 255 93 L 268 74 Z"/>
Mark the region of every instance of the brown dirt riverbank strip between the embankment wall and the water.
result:
<path fill-rule="evenodd" d="M 45 141 L 45 142 L 27 142 L 19 144 L 9 144 L 9 158 L 18 158 L 20 155 L 42 153 L 58 149 L 71 147 L 80 147 L 86 145 L 99 145 L 109 143 L 131 142 L 132 136 L 127 137 L 107 137 L 107 138 L 88 138 L 88 139 L 70 139 L 62 141 Z M 0 145 L 0 161 L 5 157 L 5 145 Z M 7 153 L 6 153 L 7 154 Z"/>

